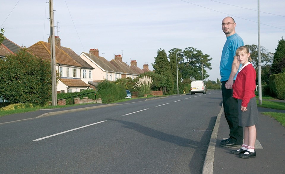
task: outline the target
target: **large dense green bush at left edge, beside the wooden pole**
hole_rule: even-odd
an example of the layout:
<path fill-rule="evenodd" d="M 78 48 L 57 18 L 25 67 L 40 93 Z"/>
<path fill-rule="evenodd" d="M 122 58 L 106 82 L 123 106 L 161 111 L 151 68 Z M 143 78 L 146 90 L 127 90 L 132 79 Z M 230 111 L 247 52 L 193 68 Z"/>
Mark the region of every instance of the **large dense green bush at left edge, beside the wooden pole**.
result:
<path fill-rule="evenodd" d="M 50 62 L 21 48 L 0 60 L 0 95 L 10 103 L 45 105 L 51 99 Z"/>

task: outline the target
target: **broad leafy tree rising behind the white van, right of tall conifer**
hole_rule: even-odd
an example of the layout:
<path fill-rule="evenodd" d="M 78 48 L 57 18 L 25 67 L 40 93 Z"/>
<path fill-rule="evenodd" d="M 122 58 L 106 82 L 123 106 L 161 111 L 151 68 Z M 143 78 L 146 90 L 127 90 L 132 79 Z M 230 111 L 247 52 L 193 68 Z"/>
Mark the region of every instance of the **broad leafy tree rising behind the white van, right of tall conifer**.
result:
<path fill-rule="evenodd" d="M 183 50 L 183 55 L 186 60 L 183 60 L 183 69 L 181 69 L 183 78 L 202 80 L 209 77 L 205 68 L 212 69 L 210 61 L 212 58 L 208 54 L 203 54 L 202 51 L 193 47 L 188 47 Z M 202 77 L 203 67 L 203 77 Z"/>

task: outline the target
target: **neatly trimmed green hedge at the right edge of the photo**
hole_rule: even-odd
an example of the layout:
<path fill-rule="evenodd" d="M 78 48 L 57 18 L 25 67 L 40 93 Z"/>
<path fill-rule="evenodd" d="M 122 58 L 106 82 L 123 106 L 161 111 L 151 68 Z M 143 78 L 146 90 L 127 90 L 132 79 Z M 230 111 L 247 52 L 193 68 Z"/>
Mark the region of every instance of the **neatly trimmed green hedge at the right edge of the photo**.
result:
<path fill-rule="evenodd" d="M 272 97 L 285 99 L 285 74 L 273 74 L 269 77 L 270 92 Z"/>

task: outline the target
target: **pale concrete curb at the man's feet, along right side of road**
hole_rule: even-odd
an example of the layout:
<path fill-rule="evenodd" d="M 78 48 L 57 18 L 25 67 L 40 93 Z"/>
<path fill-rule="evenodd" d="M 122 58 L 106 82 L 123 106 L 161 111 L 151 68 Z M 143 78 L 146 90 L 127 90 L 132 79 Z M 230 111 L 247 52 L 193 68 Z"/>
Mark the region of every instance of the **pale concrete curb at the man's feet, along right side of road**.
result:
<path fill-rule="evenodd" d="M 223 113 L 223 110 L 224 110 L 224 107 L 222 105 L 220 113 L 217 116 L 216 123 L 215 123 L 214 129 L 213 129 L 213 132 L 212 132 L 212 135 L 210 138 L 210 142 L 209 142 L 208 150 L 206 153 L 202 174 L 213 174 L 215 147 L 216 147 L 218 131 L 219 131 L 219 126 L 220 126 L 220 119 L 221 119 L 221 115 Z"/>

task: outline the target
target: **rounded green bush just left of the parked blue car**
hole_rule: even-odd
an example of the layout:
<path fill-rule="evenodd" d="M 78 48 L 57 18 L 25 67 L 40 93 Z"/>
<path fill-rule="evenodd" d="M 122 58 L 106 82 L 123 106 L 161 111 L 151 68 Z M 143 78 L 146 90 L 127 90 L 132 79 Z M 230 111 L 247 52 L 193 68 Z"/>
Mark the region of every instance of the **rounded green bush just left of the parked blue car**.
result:
<path fill-rule="evenodd" d="M 97 89 L 98 98 L 102 99 L 102 103 L 111 103 L 126 97 L 126 89 L 123 85 L 115 84 L 107 80 L 99 83 Z"/>

